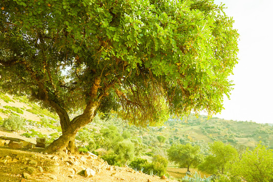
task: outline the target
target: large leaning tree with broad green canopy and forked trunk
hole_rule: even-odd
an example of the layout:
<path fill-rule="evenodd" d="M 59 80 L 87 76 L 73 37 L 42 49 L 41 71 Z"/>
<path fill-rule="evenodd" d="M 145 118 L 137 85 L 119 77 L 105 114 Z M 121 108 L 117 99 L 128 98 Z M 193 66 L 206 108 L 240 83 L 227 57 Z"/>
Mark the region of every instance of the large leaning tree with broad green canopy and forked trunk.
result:
<path fill-rule="evenodd" d="M 238 33 L 212 0 L 3 0 L 0 87 L 60 117 L 47 152 L 73 152 L 96 113 L 136 125 L 222 109 Z M 69 113 L 82 111 L 70 118 Z"/>

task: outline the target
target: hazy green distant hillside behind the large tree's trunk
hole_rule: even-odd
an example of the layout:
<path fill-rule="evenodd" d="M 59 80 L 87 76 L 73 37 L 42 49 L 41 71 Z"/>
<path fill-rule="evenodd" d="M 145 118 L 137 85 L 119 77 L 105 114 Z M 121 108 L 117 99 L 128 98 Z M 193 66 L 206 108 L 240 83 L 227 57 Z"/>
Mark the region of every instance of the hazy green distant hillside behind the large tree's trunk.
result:
<path fill-rule="evenodd" d="M 40 108 L 35 103 L 28 102 L 26 97 L 17 98 L 1 94 L 0 120 L 10 114 L 26 118 L 28 124 L 51 129 L 52 132 L 57 133 L 55 137 L 58 136 L 58 133 L 61 134 L 59 118 L 56 114 Z M 44 125 L 41 118 L 46 118 L 48 123 Z M 167 139 L 162 146 L 165 149 L 168 149 L 173 143 L 186 144 L 191 142 L 206 146 L 207 143 L 217 140 L 234 146 L 243 145 L 250 148 L 254 148 L 261 141 L 263 145 L 273 148 L 273 124 L 224 120 L 217 117 L 208 119 L 204 115 L 197 118 L 191 114 L 187 122 L 185 118 L 170 117 L 163 126 L 147 128 L 130 126 L 115 116 L 108 120 L 101 120 L 96 117 L 93 123 L 87 125 L 86 128 L 94 128 L 94 130 L 99 131 L 101 128 L 110 125 L 117 126 L 120 132 L 127 130 L 132 136 L 142 138 L 145 147 L 152 151 L 159 150 L 159 143 L 156 139 L 159 135 Z"/>

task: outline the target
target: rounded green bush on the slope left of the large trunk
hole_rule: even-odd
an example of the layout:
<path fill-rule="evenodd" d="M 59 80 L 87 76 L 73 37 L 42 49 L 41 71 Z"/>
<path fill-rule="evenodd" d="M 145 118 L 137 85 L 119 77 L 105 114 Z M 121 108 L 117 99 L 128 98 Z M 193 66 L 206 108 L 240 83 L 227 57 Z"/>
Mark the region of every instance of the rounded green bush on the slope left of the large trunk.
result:
<path fill-rule="evenodd" d="M 25 125 L 25 120 L 19 116 L 10 115 L 8 118 L 4 119 L 3 127 L 9 130 L 20 130 L 23 129 Z"/>

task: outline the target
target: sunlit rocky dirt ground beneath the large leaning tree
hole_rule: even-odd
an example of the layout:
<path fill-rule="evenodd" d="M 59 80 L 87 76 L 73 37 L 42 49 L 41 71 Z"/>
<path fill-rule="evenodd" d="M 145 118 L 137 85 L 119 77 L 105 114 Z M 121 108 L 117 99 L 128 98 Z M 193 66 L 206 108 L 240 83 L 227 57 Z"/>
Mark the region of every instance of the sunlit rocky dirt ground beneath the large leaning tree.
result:
<path fill-rule="evenodd" d="M 173 182 L 124 166 L 108 165 L 92 153 L 42 154 L 42 149 L 0 147 L 0 181 L 154 181 Z"/>

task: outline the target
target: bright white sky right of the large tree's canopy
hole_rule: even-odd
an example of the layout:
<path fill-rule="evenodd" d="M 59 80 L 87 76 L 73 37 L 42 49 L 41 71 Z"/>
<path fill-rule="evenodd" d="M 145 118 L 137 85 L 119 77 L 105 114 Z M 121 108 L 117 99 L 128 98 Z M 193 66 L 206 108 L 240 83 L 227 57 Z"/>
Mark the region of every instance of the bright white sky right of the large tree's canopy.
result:
<path fill-rule="evenodd" d="M 234 69 L 234 90 L 216 116 L 238 121 L 273 123 L 273 0 L 214 0 L 238 29 L 239 63 Z"/>

